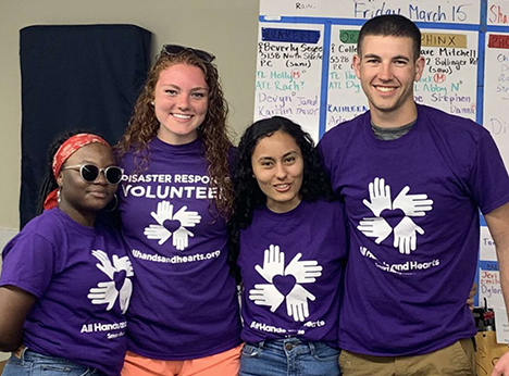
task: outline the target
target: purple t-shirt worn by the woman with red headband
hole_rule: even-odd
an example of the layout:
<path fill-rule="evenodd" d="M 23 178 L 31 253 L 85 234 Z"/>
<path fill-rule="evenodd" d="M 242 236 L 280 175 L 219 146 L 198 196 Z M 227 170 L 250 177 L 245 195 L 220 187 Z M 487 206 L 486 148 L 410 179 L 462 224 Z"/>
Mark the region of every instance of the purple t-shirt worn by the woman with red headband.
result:
<path fill-rule="evenodd" d="M 24 324 L 30 350 L 119 375 L 132 279 L 116 229 L 86 227 L 52 209 L 5 246 L 0 286 L 37 297 Z"/>

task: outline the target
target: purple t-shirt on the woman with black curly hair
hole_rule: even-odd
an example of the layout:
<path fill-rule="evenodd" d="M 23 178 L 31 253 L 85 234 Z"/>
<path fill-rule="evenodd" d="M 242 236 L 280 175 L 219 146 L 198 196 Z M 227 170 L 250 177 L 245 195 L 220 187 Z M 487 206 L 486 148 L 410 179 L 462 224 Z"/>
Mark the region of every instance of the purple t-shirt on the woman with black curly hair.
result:
<path fill-rule="evenodd" d="M 346 256 L 340 203 L 302 201 L 287 213 L 256 210 L 240 231 L 243 340 L 298 337 L 337 347 Z"/>

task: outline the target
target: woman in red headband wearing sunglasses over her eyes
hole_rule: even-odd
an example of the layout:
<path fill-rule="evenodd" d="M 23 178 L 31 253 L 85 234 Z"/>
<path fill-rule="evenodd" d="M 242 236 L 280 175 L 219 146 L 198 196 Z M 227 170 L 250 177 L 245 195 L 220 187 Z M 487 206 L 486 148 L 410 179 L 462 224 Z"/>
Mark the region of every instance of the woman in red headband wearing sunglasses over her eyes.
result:
<path fill-rule="evenodd" d="M 2 254 L 0 350 L 13 351 L 3 375 L 119 375 L 133 267 L 120 231 L 98 212 L 122 168 L 90 134 L 57 141 L 49 165 L 46 210 Z"/>

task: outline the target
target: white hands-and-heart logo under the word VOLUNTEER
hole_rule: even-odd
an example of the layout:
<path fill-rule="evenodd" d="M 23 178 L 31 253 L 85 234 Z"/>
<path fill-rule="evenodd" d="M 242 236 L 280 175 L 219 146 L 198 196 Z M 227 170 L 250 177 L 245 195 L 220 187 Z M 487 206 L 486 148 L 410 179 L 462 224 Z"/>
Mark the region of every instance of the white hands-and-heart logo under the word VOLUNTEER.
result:
<path fill-rule="evenodd" d="M 156 239 L 161 246 L 173 235 L 172 243 L 179 251 L 185 250 L 189 246 L 189 237 L 195 236 L 187 228 L 195 227 L 201 221 L 200 214 L 187 211 L 187 206 L 182 206 L 174 214 L 170 201 L 159 202 L 158 211 L 151 212 L 150 215 L 158 224 L 145 227 L 144 235 L 147 239 Z"/>

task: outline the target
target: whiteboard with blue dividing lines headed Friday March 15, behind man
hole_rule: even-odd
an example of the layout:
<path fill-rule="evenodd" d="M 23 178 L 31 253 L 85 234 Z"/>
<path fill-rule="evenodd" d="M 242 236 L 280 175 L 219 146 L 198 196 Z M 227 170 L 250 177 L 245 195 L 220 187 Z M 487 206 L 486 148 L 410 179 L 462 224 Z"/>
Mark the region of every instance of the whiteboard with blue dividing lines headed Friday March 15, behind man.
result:
<path fill-rule="evenodd" d="M 358 32 L 374 15 L 398 13 L 422 32 L 426 65 L 414 84 L 415 102 L 483 123 L 483 77 L 492 71 L 484 71 L 481 10 L 486 8 L 485 22 L 492 14 L 493 27 L 500 27 L 509 22 L 502 15 L 509 11 L 506 2 L 261 0 L 254 120 L 289 117 L 318 141 L 365 112 L 368 102 L 351 66 Z"/>

